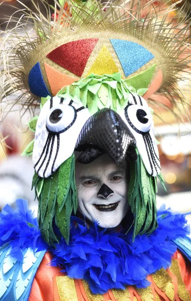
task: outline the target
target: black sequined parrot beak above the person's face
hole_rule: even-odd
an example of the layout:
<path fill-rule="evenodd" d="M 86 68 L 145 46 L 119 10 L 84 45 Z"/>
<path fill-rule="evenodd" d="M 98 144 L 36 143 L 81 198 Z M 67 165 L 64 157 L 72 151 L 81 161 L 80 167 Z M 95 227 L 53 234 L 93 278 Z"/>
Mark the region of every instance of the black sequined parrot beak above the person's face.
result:
<path fill-rule="evenodd" d="M 86 121 L 75 150 L 86 152 L 86 156 L 78 158 L 78 161 L 84 164 L 107 153 L 117 165 L 121 165 L 128 155 L 132 157 L 129 159 L 136 160 L 135 146 L 136 140 L 119 114 L 104 108 Z"/>

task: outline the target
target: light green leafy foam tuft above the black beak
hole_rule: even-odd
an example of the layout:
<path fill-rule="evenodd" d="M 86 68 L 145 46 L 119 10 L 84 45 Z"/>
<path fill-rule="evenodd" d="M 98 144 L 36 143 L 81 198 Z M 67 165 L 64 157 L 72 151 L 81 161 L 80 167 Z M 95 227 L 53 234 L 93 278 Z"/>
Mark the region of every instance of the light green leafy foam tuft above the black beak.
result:
<path fill-rule="evenodd" d="M 139 91 L 142 92 L 141 89 Z M 136 93 L 136 90 L 126 84 L 120 72 L 112 75 L 91 73 L 86 78 L 64 87 L 57 95 L 70 97 L 76 103 L 81 102 L 84 107 L 88 107 L 91 114 L 105 107 L 120 113 L 127 105 L 131 92 Z"/>

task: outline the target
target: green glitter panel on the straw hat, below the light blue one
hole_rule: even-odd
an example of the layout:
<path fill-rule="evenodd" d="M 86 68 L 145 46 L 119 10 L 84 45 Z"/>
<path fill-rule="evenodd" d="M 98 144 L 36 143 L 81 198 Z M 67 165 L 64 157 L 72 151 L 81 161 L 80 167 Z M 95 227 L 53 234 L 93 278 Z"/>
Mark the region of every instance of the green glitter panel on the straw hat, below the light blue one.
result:
<path fill-rule="evenodd" d="M 147 88 L 151 82 L 155 68 L 156 64 L 136 76 L 125 79 L 124 82 L 128 86 L 135 88 L 136 91 L 142 88 Z"/>

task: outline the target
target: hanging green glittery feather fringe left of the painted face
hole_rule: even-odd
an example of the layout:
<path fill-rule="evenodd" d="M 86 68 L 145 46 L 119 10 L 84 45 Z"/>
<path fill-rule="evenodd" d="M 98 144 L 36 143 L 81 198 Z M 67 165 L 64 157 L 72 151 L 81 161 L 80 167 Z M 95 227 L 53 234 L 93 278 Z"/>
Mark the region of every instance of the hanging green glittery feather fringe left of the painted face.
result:
<path fill-rule="evenodd" d="M 45 241 L 51 245 L 58 242 L 53 228 L 55 222 L 68 243 L 70 216 L 72 211 L 76 213 L 78 207 L 74 155 L 48 178 L 41 178 L 35 172 L 33 187 L 39 201 L 39 227 Z"/>

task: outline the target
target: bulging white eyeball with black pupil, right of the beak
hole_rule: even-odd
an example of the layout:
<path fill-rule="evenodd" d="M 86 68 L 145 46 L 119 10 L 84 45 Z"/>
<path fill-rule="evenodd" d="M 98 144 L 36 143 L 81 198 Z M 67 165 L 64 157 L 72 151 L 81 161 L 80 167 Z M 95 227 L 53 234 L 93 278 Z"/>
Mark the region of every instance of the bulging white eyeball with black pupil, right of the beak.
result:
<path fill-rule="evenodd" d="M 147 132 L 152 124 L 152 115 L 149 107 L 129 104 L 125 108 L 125 117 L 129 125 L 136 131 Z"/>

